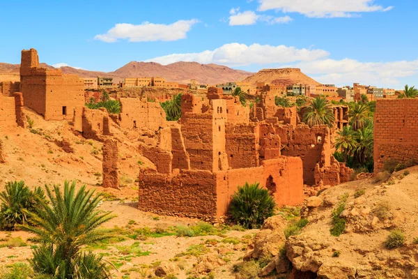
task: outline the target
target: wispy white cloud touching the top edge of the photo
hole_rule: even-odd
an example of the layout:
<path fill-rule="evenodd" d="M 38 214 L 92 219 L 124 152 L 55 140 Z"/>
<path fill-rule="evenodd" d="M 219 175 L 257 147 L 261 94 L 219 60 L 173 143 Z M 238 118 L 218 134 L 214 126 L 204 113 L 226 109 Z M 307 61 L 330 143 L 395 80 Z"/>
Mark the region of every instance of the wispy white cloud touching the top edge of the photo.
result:
<path fill-rule="evenodd" d="M 258 10 L 281 10 L 300 13 L 307 17 L 355 17 L 356 13 L 386 12 L 393 6 L 383 7 L 374 0 L 258 0 Z"/>

